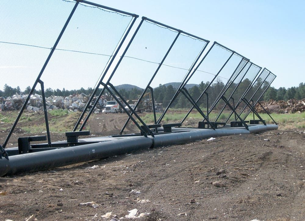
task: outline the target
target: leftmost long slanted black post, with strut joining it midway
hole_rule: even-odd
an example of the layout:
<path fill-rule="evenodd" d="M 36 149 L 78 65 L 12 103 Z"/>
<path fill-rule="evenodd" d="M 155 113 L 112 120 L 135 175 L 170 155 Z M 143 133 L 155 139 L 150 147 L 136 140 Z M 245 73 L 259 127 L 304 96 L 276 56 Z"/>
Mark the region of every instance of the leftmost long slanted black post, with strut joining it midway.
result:
<path fill-rule="evenodd" d="M 31 88 L 31 90 L 30 90 L 30 92 L 29 92 L 29 95 L 27 96 L 27 99 L 26 99 L 25 102 L 23 103 L 23 106 L 22 106 L 22 108 L 21 108 L 21 110 L 20 110 L 20 112 L 19 112 L 19 114 L 18 114 L 18 116 L 17 116 L 15 122 L 14 122 L 12 128 L 10 129 L 9 134 L 7 135 L 7 137 L 6 137 L 6 139 L 5 139 L 4 143 L 3 143 L 3 147 L 4 147 L 4 148 L 5 148 L 6 144 L 7 144 L 7 142 L 9 141 L 9 138 L 10 138 L 10 136 L 12 135 L 13 130 L 15 129 L 15 127 L 16 127 L 16 125 L 17 125 L 17 123 L 18 123 L 18 121 L 19 121 L 19 119 L 20 119 L 20 117 L 21 117 L 21 115 L 22 115 L 22 113 L 23 113 L 23 111 L 24 111 L 24 109 L 26 108 L 27 102 L 29 102 L 30 96 L 33 94 L 33 92 L 34 92 L 34 90 L 35 90 L 35 87 L 36 87 L 36 85 L 38 84 L 38 81 L 40 80 L 40 77 L 41 77 L 42 73 L 43 73 L 44 70 L 45 70 L 45 67 L 47 66 L 49 60 L 51 59 L 52 54 L 53 54 L 53 52 L 55 51 L 56 46 L 57 46 L 57 44 L 59 43 L 60 38 L 63 36 L 63 33 L 65 32 L 66 27 L 68 26 L 68 24 L 69 24 L 69 22 L 70 22 L 70 19 L 72 18 L 73 14 L 74 14 L 74 12 L 75 12 L 75 10 L 76 10 L 76 8 L 77 8 L 78 3 L 79 3 L 79 2 L 76 2 L 76 3 L 75 3 L 75 5 L 74 5 L 74 7 L 73 7 L 73 9 L 72 9 L 72 11 L 71 11 L 71 13 L 70 13 L 68 19 L 66 20 L 66 23 L 65 23 L 64 26 L 63 26 L 63 29 L 62 29 L 61 32 L 59 33 L 59 36 L 57 37 L 57 40 L 56 40 L 56 42 L 54 43 L 54 46 L 52 47 L 52 49 L 51 49 L 51 51 L 50 51 L 50 54 L 48 55 L 47 59 L 45 60 L 45 64 L 42 66 L 41 71 L 40 71 L 40 73 L 38 74 L 38 77 L 37 77 L 37 79 L 36 79 L 36 81 L 35 81 L 33 87 Z"/>

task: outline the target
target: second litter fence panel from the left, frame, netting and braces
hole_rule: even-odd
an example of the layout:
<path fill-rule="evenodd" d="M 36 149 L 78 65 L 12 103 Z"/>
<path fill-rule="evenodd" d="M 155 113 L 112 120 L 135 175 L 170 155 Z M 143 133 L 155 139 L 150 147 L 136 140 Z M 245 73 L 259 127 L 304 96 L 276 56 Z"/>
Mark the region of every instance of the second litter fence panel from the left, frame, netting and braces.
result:
<path fill-rule="evenodd" d="M 145 106 L 143 111 L 149 109 L 154 115 L 156 114 L 155 106 L 163 100 L 160 97 L 154 99 L 154 88 L 171 81 L 178 81 L 180 84 L 199 59 L 207 43 L 207 40 L 184 31 L 146 17 L 142 18 L 113 72 L 107 73 L 105 77 L 108 81 L 104 85 L 110 92 L 114 92 L 111 92 L 114 97 L 117 96 L 114 99 L 121 102 L 121 108 L 128 115 L 120 133 L 123 133 L 129 119 L 137 124 L 132 116 L 141 122 L 136 111 L 130 107 L 131 104 L 136 105 L 134 109 L 138 112 L 143 108 L 142 106 Z M 126 84 L 134 88 L 129 92 L 121 90 L 120 88 Z M 144 97 L 147 93 L 150 94 L 149 99 Z M 141 124 L 149 130 L 144 122 Z M 142 128 L 139 129 L 143 133 Z"/>

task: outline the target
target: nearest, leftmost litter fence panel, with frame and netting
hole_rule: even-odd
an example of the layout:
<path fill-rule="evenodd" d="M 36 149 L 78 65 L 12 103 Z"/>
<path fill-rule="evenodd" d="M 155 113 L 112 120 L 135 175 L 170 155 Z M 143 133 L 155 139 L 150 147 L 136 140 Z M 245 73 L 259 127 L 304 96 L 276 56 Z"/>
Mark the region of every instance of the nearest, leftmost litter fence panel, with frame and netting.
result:
<path fill-rule="evenodd" d="M 5 35 L 0 34 L 0 46 L 8 48 L 5 50 L 8 57 L 16 58 L 18 56 L 20 65 L 27 64 L 29 82 L 33 83 L 32 76 L 38 75 L 33 87 L 29 88 L 29 94 L 23 96 L 24 103 L 3 146 L 7 144 L 15 128 L 22 132 L 25 131 L 25 135 L 33 132 L 47 133 L 49 144 L 51 144 L 52 133 L 56 133 L 61 128 L 67 130 L 66 127 L 71 124 L 71 120 L 77 117 L 76 112 L 70 113 L 68 109 L 80 110 L 84 107 L 87 96 L 81 92 L 85 91 L 84 87 L 88 87 L 86 92 L 92 93 L 91 87 L 96 85 L 107 65 L 110 65 L 124 36 L 127 35 L 138 17 L 95 3 L 81 2 L 35 1 L 34 5 L 32 2 L 24 1 L 18 2 L 18 5 L 11 1 L 1 2 L 1 4 L 5 4 L 4 11 L 10 13 L 0 14 L 3 16 L 2 21 L 6 21 L 2 25 Z M 9 19 L 11 17 L 18 20 L 11 22 Z M 15 25 L 14 31 L 18 35 L 9 33 L 11 23 Z M 24 25 L 22 25 L 23 23 Z M 15 47 L 16 50 L 10 50 L 11 47 Z M 37 57 L 39 58 L 37 59 Z M 9 64 L 7 63 L 7 65 Z M 5 75 L 7 74 L 8 72 Z M 23 79 L 27 78 L 24 76 Z M 75 91 L 75 93 L 79 93 L 77 97 L 69 97 L 64 94 L 66 90 L 77 88 L 80 89 L 78 92 Z M 53 89 L 56 90 L 53 91 Z M 56 92 L 58 95 L 48 98 L 50 92 Z M 37 102 L 40 103 L 38 107 L 36 107 Z M 25 128 L 24 119 L 30 118 L 28 113 L 23 113 L 23 111 L 28 109 L 29 105 L 33 107 L 33 104 L 36 105 L 35 110 L 41 110 L 44 115 L 36 116 L 30 113 L 31 120 L 37 120 L 38 123 L 35 127 Z M 63 112 L 60 109 L 66 110 Z M 54 115 L 56 118 L 58 114 L 66 114 L 66 122 L 54 124 L 52 120 L 48 122 L 48 118 L 54 118 Z M 43 116 L 45 116 L 46 125 L 42 123 L 44 122 Z M 72 129 L 73 124 L 70 126 Z"/>

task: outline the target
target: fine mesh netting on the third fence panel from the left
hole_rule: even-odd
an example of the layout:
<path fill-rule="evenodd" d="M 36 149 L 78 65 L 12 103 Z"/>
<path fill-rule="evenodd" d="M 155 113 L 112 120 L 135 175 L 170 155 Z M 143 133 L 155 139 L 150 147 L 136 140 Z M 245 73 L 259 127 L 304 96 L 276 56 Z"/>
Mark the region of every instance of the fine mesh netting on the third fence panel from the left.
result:
<path fill-rule="evenodd" d="M 222 93 L 225 92 L 229 85 L 238 79 L 239 73 L 246 62 L 247 60 L 238 54 L 233 53 L 231 50 L 221 47 L 218 44 L 212 46 L 206 57 L 204 57 L 203 62 L 196 71 L 188 77 L 184 86 L 184 88 L 187 89 L 187 86 L 190 85 L 190 83 L 197 83 L 198 86 L 195 85 L 196 87 L 194 87 L 192 85 L 189 88 L 189 95 L 191 95 L 194 101 L 197 101 L 196 103 L 203 114 L 207 115 L 208 110 L 206 107 L 211 103 L 213 104 L 212 107 L 215 106 Z M 204 92 L 208 93 L 208 96 L 206 96 Z M 184 98 L 184 95 L 179 94 L 177 100 L 178 102 L 183 102 Z M 209 104 L 207 103 L 207 98 Z M 191 102 L 188 101 L 188 105 L 191 105 Z M 190 111 L 182 121 L 184 121 L 191 112 L 196 118 L 203 118 L 198 113 L 198 110 L 191 105 Z"/>

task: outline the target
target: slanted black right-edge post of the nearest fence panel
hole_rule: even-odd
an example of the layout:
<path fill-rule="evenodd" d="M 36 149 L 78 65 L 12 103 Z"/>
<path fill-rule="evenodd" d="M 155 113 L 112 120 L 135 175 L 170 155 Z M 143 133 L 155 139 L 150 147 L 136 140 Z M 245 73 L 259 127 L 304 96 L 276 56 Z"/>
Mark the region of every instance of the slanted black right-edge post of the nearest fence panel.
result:
<path fill-rule="evenodd" d="M 76 130 L 77 130 L 78 125 L 81 123 L 81 120 L 83 119 L 83 117 L 84 117 L 86 111 L 88 110 L 88 108 L 89 108 L 89 106 L 90 106 L 90 104 L 91 104 L 92 99 L 94 98 L 96 92 L 98 91 L 99 86 L 101 85 L 102 81 L 104 80 L 104 78 L 105 78 L 105 76 L 106 76 L 106 74 L 107 74 L 107 72 L 108 72 L 108 70 L 109 70 L 111 64 L 113 63 L 113 60 L 116 58 L 116 56 L 117 56 L 117 54 L 118 54 L 120 48 L 122 47 L 122 45 L 123 45 L 123 43 L 124 43 L 124 41 L 125 41 L 127 35 L 129 34 L 129 32 L 130 32 L 131 28 L 133 27 L 133 25 L 134 25 L 134 23 L 135 23 L 135 20 L 136 20 L 137 18 L 138 18 L 138 16 L 135 16 L 135 17 L 134 17 L 133 21 L 131 22 L 131 25 L 129 26 L 129 28 L 127 29 L 126 33 L 124 34 L 124 37 L 122 38 L 122 40 L 121 40 L 119 46 L 117 47 L 115 53 L 113 54 L 112 59 L 111 59 L 110 62 L 108 63 L 108 65 L 107 65 L 107 67 L 106 67 L 106 69 L 105 69 L 105 71 L 104 71 L 104 73 L 103 73 L 101 79 L 99 80 L 99 83 L 96 85 L 96 87 L 94 88 L 94 91 L 91 93 L 91 96 L 90 96 L 90 98 L 88 99 L 88 102 L 87 102 L 87 104 L 86 104 L 84 110 L 81 112 L 81 115 L 80 115 L 80 117 L 78 118 L 77 123 L 75 124 L 74 128 L 72 129 L 72 131 L 76 131 Z M 99 99 L 101 98 L 101 96 L 102 96 L 102 94 L 98 96 L 97 102 L 99 101 Z M 97 104 L 97 103 L 96 103 L 96 104 Z M 96 106 L 96 104 L 89 110 L 89 115 L 91 115 L 91 113 L 93 112 L 94 107 Z M 84 125 L 86 124 L 87 120 L 88 120 L 87 118 L 84 120 Z M 83 129 L 83 128 L 84 128 L 84 126 L 81 127 L 81 129 Z"/>

